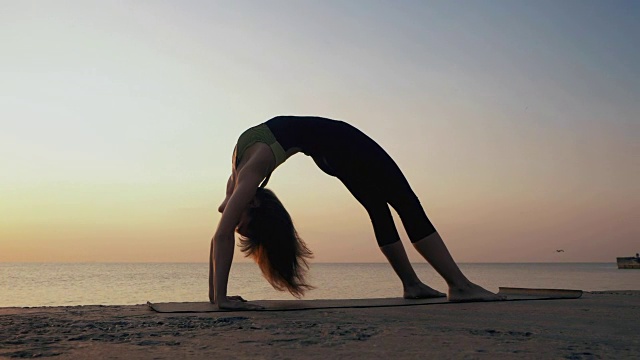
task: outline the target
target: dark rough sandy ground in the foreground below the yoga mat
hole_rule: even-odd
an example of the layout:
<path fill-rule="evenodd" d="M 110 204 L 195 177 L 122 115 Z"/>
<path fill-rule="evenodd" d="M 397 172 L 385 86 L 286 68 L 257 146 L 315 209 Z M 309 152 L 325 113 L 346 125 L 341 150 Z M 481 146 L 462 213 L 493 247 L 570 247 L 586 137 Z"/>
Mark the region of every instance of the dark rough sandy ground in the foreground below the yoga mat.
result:
<path fill-rule="evenodd" d="M 640 291 L 575 300 L 158 314 L 146 305 L 0 308 L 0 357 L 637 359 Z"/>

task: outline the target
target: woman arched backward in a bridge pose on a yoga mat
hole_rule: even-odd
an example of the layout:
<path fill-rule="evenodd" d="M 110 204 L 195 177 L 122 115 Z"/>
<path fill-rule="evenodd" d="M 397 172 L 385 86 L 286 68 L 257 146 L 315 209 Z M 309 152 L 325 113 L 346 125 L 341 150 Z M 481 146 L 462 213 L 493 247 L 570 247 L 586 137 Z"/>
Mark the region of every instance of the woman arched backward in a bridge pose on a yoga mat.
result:
<path fill-rule="evenodd" d="M 500 297 L 470 282 L 449 254 L 406 178 L 391 157 L 371 138 L 342 121 L 320 117 L 278 116 L 245 131 L 233 154 L 222 218 L 211 241 L 209 300 L 219 308 L 256 309 L 239 296 L 227 296 L 234 251 L 253 257 L 265 278 L 278 290 L 300 297 L 311 251 L 298 237 L 291 217 L 264 189 L 273 170 L 291 155 L 311 156 L 325 173 L 335 176 L 365 207 L 380 250 L 402 282 L 409 299 L 444 297 L 423 284 L 414 272 L 393 223 L 397 211 L 416 250 L 446 280 L 450 301 L 496 300 Z"/>

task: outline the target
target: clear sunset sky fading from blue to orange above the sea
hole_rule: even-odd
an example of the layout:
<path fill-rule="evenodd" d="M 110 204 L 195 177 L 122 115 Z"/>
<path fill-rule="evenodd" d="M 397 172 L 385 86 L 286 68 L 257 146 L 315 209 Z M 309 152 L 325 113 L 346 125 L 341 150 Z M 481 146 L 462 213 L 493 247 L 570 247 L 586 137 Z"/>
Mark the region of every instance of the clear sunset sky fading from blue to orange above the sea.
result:
<path fill-rule="evenodd" d="M 277 115 L 375 139 L 459 262 L 632 256 L 639 17 L 636 1 L 0 0 L 0 262 L 206 262 L 235 142 Z M 269 185 L 314 262 L 385 261 L 310 158 Z"/>

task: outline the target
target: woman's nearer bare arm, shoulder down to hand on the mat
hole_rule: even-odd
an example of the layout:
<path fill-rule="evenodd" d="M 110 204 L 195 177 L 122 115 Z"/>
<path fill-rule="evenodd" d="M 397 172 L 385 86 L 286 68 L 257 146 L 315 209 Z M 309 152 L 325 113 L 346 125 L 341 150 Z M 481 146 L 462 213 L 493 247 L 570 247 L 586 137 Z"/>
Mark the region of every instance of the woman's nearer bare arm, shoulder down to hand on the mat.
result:
<path fill-rule="evenodd" d="M 227 283 L 235 247 L 235 228 L 264 178 L 263 171 L 245 166 L 239 173 L 235 189 L 229 197 L 222 218 L 211 241 L 209 258 L 209 301 L 221 308 L 250 309 L 255 305 L 231 301 L 227 298 Z"/>

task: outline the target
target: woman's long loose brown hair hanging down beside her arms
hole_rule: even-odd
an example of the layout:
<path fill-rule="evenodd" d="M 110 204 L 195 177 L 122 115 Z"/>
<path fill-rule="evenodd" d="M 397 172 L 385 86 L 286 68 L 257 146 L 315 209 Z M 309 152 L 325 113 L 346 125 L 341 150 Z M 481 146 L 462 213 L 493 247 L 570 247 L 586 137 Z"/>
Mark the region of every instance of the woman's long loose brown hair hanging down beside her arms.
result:
<path fill-rule="evenodd" d="M 256 206 L 248 210 L 246 233 L 240 235 L 240 249 L 255 260 L 271 286 L 300 298 L 313 289 L 305 281 L 307 259 L 313 253 L 273 191 L 258 188 L 255 197 Z"/>

